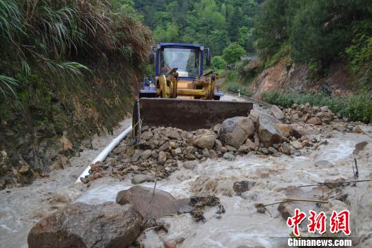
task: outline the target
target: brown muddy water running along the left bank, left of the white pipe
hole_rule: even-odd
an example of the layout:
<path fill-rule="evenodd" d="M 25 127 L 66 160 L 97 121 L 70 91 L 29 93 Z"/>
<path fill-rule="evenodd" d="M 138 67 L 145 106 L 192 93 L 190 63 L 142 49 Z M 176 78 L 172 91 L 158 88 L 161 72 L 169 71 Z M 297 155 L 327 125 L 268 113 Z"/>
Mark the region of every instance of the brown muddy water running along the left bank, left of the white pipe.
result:
<path fill-rule="evenodd" d="M 70 167 L 53 170 L 50 176 L 35 180 L 27 187 L 5 189 L 0 192 L 0 247 L 28 247 L 27 235 L 32 225 L 50 212 L 72 203 L 87 190 L 75 185 L 85 167 L 120 134 L 131 120 L 119 123 L 113 134 L 92 138 L 93 149 L 85 149 L 70 160 Z"/>

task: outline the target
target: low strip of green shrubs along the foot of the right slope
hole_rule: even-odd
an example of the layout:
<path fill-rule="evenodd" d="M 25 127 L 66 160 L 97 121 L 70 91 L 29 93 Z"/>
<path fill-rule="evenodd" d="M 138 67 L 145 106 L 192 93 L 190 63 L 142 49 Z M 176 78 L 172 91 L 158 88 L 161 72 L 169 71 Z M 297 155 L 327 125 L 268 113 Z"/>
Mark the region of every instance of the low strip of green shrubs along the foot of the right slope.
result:
<path fill-rule="evenodd" d="M 328 96 L 323 93 L 299 94 L 297 92 L 265 92 L 262 99 L 283 107 L 291 107 L 294 103 L 312 106 L 328 106 L 329 109 L 350 121 L 372 122 L 372 96 L 367 90 L 362 90 L 353 96 Z"/>

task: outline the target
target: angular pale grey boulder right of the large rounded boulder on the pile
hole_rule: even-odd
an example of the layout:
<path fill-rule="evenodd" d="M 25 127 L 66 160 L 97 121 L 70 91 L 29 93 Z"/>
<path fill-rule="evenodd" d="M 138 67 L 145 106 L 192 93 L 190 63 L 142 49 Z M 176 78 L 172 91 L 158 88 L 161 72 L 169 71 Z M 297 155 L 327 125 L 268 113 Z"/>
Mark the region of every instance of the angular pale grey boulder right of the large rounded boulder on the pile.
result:
<path fill-rule="evenodd" d="M 269 147 L 274 143 L 280 143 L 283 138 L 282 132 L 276 127 L 280 123 L 276 118 L 269 116 L 269 114 L 260 114 L 257 119 L 258 137 L 260 141 Z"/>

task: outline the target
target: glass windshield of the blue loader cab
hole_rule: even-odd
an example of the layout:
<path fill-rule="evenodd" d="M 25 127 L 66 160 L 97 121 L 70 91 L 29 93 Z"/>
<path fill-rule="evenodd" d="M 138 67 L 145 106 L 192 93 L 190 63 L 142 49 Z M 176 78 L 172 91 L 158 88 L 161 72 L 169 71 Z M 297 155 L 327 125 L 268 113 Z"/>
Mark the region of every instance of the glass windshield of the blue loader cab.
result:
<path fill-rule="evenodd" d="M 159 74 L 168 74 L 177 68 L 180 77 L 198 77 L 200 74 L 200 51 L 190 48 L 162 48 Z"/>

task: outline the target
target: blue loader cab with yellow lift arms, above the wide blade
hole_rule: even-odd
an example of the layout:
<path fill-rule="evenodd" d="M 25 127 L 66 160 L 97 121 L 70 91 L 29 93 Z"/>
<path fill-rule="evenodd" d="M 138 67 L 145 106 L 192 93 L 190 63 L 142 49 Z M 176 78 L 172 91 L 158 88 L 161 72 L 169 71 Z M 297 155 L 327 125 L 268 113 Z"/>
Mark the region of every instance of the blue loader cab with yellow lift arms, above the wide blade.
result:
<path fill-rule="evenodd" d="M 155 63 L 155 78 L 145 79 L 139 98 L 215 99 L 218 92 L 216 74 L 204 75 L 209 65 L 209 48 L 200 44 L 158 43 L 152 47 L 150 63 Z M 211 82 L 209 78 L 213 78 Z M 200 80 L 201 79 L 201 80 Z M 153 83 L 149 83 L 149 82 Z M 208 81 L 208 82 L 207 82 Z"/>

